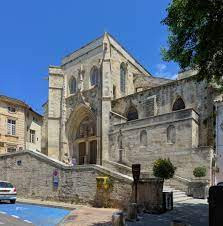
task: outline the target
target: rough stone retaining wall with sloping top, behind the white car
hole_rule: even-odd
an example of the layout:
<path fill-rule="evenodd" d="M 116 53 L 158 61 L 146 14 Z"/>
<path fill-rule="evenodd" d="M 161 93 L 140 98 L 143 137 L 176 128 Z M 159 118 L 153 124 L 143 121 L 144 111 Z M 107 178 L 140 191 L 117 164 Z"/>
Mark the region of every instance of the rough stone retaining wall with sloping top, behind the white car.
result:
<path fill-rule="evenodd" d="M 0 168 L 0 180 L 14 184 L 19 197 L 94 205 L 98 176 L 109 176 L 112 180 L 111 206 L 126 205 L 131 197 L 132 179 L 128 176 L 95 165 L 73 168 L 35 151 L 0 155 Z M 53 186 L 55 170 L 59 175 L 58 188 Z"/>

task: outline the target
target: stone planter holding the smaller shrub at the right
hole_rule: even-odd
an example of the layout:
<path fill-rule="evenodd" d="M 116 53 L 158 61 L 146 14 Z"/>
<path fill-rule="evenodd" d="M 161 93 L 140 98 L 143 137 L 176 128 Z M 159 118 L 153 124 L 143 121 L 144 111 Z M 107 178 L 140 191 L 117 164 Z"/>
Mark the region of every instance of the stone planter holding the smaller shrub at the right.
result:
<path fill-rule="evenodd" d="M 208 181 L 193 180 L 188 183 L 187 195 L 196 199 L 206 199 L 208 197 Z"/>

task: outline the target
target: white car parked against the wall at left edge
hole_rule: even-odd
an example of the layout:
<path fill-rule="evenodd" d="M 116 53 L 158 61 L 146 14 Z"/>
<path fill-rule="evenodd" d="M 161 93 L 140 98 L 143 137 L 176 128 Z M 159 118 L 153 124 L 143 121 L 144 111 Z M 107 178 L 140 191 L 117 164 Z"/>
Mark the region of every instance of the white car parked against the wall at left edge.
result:
<path fill-rule="evenodd" d="M 16 188 L 7 181 L 0 181 L 0 201 L 16 202 Z"/>

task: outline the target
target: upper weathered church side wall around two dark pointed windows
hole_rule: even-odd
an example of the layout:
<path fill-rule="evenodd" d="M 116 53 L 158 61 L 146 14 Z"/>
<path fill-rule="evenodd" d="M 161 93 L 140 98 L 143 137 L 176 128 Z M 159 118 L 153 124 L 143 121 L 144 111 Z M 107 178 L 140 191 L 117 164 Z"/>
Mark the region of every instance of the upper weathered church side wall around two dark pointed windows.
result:
<path fill-rule="evenodd" d="M 193 108 L 199 115 L 199 145 L 213 145 L 213 90 L 205 81 L 197 82 L 194 77 L 113 100 L 112 111 L 125 116 L 133 105 L 138 111 L 139 119 L 163 115 L 172 112 L 178 97 L 183 99 L 186 109 Z"/>

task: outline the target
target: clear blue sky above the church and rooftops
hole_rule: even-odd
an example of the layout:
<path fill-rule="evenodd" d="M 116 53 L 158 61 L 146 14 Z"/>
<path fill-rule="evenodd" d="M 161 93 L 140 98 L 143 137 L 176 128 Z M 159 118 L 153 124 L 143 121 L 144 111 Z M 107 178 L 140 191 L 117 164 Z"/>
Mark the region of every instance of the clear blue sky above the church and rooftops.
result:
<path fill-rule="evenodd" d="M 42 112 L 49 65 L 104 31 L 153 75 L 174 77 L 178 66 L 161 60 L 170 0 L 19 0 L 0 3 L 0 94 Z"/>

